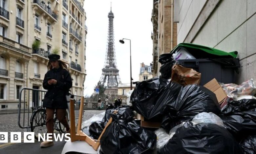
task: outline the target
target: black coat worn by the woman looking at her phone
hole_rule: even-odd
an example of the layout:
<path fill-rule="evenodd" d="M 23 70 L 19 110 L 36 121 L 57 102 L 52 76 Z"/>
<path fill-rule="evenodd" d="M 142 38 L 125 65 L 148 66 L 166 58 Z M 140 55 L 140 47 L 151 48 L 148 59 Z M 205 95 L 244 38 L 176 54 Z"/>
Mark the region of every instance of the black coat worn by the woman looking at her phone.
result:
<path fill-rule="evenodd" d="M 48 77 L 57 80 L 57 84 L 49 85 Z M 68 108 L 66 94 L 72 87 L 72 79 L 66 69 L 59 67 L 49 70 L 44 76 L 43 87 L 48 90 L 44 96 L 43 107 Z"/>

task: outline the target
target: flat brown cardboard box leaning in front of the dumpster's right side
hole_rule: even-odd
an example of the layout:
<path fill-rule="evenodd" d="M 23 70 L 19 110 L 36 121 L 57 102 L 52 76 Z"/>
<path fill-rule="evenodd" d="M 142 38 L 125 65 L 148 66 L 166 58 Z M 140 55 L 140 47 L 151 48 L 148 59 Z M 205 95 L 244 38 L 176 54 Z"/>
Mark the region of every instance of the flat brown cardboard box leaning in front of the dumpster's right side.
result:
<path fill-rule="evenodd" d="M 223 88 L 215 78 L 212 79 L 207 84 L 205 84 L 203 87 L 206 87 L 207 89 L 215 93 L 219 104 L 221 104 L 224 101 L 224 99 L 227 97 L 226 92 L 223 90 Z"/>

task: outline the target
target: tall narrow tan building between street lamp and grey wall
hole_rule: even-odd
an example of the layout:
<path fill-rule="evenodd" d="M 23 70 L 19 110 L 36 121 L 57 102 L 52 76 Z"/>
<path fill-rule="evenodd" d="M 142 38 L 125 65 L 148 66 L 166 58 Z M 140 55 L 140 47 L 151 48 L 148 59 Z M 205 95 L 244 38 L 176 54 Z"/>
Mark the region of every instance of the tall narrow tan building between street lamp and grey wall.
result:
<path fill-rule="evenodd" d="M 169 53 L 177 45 L 177 23 L 173 20 L 173 0 L 154 0 L 152 10 L 153 76 L 159 76 L 159 55 Z"/>

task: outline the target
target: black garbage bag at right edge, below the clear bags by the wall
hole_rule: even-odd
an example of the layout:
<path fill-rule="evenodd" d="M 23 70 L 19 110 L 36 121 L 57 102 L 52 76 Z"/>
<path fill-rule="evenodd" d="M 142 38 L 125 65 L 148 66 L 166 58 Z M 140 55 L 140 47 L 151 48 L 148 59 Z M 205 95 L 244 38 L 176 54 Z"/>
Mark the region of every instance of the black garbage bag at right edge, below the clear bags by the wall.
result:
<path fill-rule="evenodd" d="M 228 102 L 219 117 L 237 140 L 256 135 L 256 99 Z"/>

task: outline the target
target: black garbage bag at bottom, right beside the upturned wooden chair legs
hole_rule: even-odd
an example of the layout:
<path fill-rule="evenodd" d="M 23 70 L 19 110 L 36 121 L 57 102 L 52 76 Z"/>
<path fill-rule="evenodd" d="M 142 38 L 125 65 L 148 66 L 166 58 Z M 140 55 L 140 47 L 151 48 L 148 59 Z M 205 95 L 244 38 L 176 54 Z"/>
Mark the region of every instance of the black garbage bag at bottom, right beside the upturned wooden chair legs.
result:
<path fill-rule="evenodd" d="M 128 113 L 128 112 L 126 112 Z M 113 122 L 100 140 L 101 154 L 150 154 L 156 146 L 154 132 L 142 128 L 127 114 L 111 114 Z"/>

